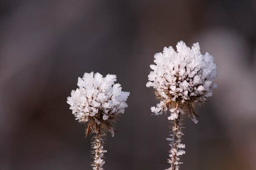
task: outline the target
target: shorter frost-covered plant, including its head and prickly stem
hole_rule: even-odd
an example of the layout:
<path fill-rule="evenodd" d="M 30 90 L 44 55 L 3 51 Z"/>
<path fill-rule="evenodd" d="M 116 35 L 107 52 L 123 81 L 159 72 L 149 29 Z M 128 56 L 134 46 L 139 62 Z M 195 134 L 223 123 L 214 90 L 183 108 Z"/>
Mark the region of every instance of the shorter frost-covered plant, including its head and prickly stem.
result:
<path fill-rule="evenodd" d="M 107 132 L 114 137 L 113 122 L 124 113 L 125 103 L 130 92 L 121 91 L 119 83 L 114 84 L 116 75 L 100 73 L 84 73 L 78 77 L 76 90 L 71 91 L 67 97 L 72 113 L 78 122 L 86 123 L 85 136 L 94 133 L 92 138 L 92 153 L 94 154 L 93 170 L 103 170 L 105 161 L 103 155 L 104 138 Z"/>

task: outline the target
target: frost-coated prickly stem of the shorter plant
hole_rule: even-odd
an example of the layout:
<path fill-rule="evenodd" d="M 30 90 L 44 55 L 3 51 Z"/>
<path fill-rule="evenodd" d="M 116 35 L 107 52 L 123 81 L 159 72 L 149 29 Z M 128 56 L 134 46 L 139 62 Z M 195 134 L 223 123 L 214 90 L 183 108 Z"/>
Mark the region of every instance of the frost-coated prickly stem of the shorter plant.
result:
<path fill-rule="evenodd" d="M 93 145 L 93 149 L 94 149 L 94 161 L 93 161 L 93 170 L 104 170 L 102 168 L 102 166 L 105 164 L 105 161 L 103 160 L 104 157 L 104 153 L 106 153 L 107 151 L 103 149 L 103 145 L 102 145 L 102 139 L 101 137 L 96 138 L 94 145 Z"/>

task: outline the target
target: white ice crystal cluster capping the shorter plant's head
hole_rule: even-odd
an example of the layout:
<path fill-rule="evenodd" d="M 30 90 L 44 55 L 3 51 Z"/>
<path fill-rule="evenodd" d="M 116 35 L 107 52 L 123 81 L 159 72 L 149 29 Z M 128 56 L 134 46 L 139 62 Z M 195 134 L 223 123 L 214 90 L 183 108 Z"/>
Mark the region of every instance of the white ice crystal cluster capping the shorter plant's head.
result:
<path fill-rule="evenodd" d="M 100 124 L 102 120 L 124 113 L 130 92 L 121 91 L 121 85 L 114 84 L 115 81 L 114 74 L 103 77 L 100 73 L 90 72 L 84 73 L 82 78 L 78 77 L 79 88 L 72 90 L 71 96 L 67 97 L 75 119 L 87 122 L 89 118 L 94 118 Z"/>

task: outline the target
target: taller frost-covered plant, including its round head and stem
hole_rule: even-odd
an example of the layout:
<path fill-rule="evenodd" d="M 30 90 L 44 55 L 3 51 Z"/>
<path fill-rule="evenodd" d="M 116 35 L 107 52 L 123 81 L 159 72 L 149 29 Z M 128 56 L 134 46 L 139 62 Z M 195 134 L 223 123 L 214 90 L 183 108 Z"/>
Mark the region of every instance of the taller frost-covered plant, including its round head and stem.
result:
<path fill-rule="evenodd" d="M 181 118 L 188 114 L 194 123 L 197 123 L 196 104 L 204 103 L 212 96 L 213 83 L 217 75 L 217 65 L 214 58 L 205 53 L 202 55 L 198 43 L 192 48 L 186 46 L 183 41 L 173 47 L 165 47 L 163 53 L 156 53 L 154 63 L 150 65 L 153 71 L 149 74 L 147 87 L 153 87 L 160 103 L 151 107 L 155 115 L 170 111 L 168 120 L 172 122 L 172 134 L 167 140 L 171 150 L 168 162 L 171 167 L 167 170 L 178 170 L 180 155 L 185 154 L 184 144 L 181 144 L 182 133 Z"/>

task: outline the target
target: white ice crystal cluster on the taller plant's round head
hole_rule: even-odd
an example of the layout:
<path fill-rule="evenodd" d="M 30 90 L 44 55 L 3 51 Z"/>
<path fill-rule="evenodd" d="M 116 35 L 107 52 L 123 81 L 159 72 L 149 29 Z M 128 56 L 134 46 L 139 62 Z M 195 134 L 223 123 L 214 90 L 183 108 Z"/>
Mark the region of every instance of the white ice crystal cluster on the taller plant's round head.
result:
<path fill-rule="evenodd" d="M 156 107 L 151 107 L 151 111 L 159 115 L 170 109 L 169 120 L 175 120 L 178 116 L 176 113 L 181 111 L 179 108 L 168 108 L 170 103 L 205 102 L 216 87 L 213 83 L 217 75 L 214 58 L 208 53 L 202 55 L 198 43 L 189 48 L 180 41 L 176 47 L 177 52 L 170 46 L 165 47 L 163 53 L 155 54 L 156 65 L 150 65 L 153 71 L 146 84 L 147 87 L 153 87 L 161 98 L 161 102 Z M 175 110 L 177 111 L 174 112 Z M 195 117 L 194 121 L 196 122 Z"/>

